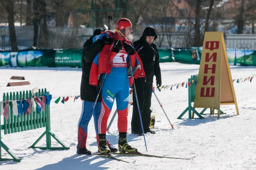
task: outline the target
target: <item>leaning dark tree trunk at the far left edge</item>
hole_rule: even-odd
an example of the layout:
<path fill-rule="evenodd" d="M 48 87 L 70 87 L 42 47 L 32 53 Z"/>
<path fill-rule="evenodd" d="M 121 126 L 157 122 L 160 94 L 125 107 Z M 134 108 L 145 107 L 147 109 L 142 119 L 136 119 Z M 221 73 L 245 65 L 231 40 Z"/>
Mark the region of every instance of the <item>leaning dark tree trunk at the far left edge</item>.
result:
<path fill-rule="evenodd" d="M 13 8 L 13 0 L 3 0 L 0 1 L 2 6 L 5 8 L 8 15 L 8 24 L 9 24 L 9 32 L 10 32 L 10 40 L 12 50 L 18 50 L 17 38 L 15 33 L 14 26 L 14 8 Z"/>

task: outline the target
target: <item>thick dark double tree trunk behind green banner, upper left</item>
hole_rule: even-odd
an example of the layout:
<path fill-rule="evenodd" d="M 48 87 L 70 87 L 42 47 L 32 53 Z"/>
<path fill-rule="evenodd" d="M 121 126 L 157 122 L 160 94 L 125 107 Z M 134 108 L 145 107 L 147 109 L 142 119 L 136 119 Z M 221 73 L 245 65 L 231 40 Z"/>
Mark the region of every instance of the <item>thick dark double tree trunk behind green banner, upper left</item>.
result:
<path fill-rule="evenodd" d="M 48 47 L 48 33 L 46 25 L 46 2 L 45 0 L 34 0 L 34 47 Z M 39 31 L 40 26 L 40 31 Z M 39 32 L 39 36 L 38 36 Z M 39 40 L 38 40 L 39 37 Z"/>

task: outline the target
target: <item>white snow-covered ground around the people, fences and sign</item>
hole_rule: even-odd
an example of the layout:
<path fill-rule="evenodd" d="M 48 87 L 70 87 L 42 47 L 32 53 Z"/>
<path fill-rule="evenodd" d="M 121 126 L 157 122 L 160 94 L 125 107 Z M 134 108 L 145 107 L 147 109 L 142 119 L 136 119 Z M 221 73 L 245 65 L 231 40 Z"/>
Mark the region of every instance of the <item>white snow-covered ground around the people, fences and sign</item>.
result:
<path fill-rule="evenodd" d="M 199 65 L 180 63 L 161 63 L 162 85 L 187 82 L 193 74 L 198 74 Z M 53 97 L 77 96 L 80 94 L 82 71 L 80 68 L 7 68 L 0 67 L 0 97 L 4 92 L 31 90 L 34 87 L 47 88 Z M 255 66 L 231 66 L 233 79 L 246 78 L 256 74 Z M 31 85 L 6 87 L 11 76 L 24 76 Z M 155 82 L 154 82 L 155 86 Z M 152 108 L 155 110 L 156 134 L 146 134 L 147 149 L 143 136 L 131 134 L 130 121 L 132 107 L 128 116 L 128 142 L 142 153 L 158 156 L 191 158 L 179 160 L 168 158 L 149 158 L 141 156 L 116 156 L 135 163 L 124 163 L 95 155 L 77 155 L 77 122 L 80 118 L 82 102 L 71 98 L 65 104 L 51 101 L 51 131 L 70 150 L 42 151 L 27 149 L 44 132 L 45 128 L 3 135 L 2 141 L 22 159 L 0 162 L 0 170 L 255 170 L 256 169 L 256 78 L 252 82 L 234 82 L 234 90 L 240 115 L 234 105 L 221 106 L 225 115 L 205 115 L 205 119 L 176 119 L 188 106 L 188 90 L 179 89 L 156 92 L 159 100 L 174 124 L 169 122 L 152 95 Z M 116 105 L 113 106 L 110 118 Z M 201 109 L 197 109 L 200 111 Z M 207 110 L 208 111 L 208 110 Z M 209 113 L 209 111 L 208 111 Z M 109 120 L 110 120 L 109 118 Z M 3 120 L 3 116 L 1 117 Z M 93 118 L 92 118 L 93 119 Z M 117 147 L 117 117 L 107 132 L 107 139 Z M 42 140 L 37 146 L 46 146 Z M 52 139 L 52 146 L 58 146 Z M 89 123 L 87 149 L 97 151 L 93 120 Z M 10 158 L 2 151 L 3 158 Z"/>

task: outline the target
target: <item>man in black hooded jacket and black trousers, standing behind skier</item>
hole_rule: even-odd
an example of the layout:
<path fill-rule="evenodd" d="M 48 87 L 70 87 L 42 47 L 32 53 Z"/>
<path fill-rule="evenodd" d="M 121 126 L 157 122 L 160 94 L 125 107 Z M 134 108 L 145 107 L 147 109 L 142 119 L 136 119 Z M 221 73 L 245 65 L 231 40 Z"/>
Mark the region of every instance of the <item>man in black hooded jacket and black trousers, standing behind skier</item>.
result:
<path fill-rule="evenodd" d="M 152 134 L 155 134 L 155 132 L 150 130 L 149 126 L 154 75 L 156 76 L 157 87 L 162 85 L 161 70 L 159 67 L 159 54 L 156 45 L 153 43 L 155 39 L 157 39 L 155 28 L 148 26 L 143 31 L 142 37 L 133 42 L 134 48 L 140 56 L 146 74 L 146 78 L 137 78 L 134 80 L 140 106 L 143 130 L 145 133 L 150 132 Z M 133 101 L 136 101 L 135 93 L 133 93 Z M 137 102 L 133 102 L 131 128 L 133 134 L 142 134 Z"/>

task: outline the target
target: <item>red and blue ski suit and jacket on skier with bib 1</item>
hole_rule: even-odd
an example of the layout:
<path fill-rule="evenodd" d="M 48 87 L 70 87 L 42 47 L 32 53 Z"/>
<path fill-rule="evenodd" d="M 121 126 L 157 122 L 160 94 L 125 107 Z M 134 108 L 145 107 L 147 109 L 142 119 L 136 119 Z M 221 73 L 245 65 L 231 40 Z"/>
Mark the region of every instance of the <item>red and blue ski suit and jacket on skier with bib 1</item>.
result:
<path fill-rule="evenodd" d="M 94 37 L 94 40 L 103 37 L 105 34 L 113 37 L 115 41 L 120 40 L 122 46 L 124 42 L 130 44 L 129 40 L 112 31 L 106 31 Z M 125 51 L 124 47 L 118 53 L 112 52 L 113 48 L 114 41 L 111 45 L 105 45 L 103 47 L 101 52 L 94 58 L 90 72 L 90 85 L 97 85 L 100 75 L 101 81 L 104 81 L 101 91 L 101 113 L 98 120 L 99 134 L 106 134 L 107 121 L 115 99 L 118 113 L 118 131 L 127 132 L 129 87 L 133 84 L 130 63 L 132 65 L 134 78 L 145 77 L 142 62 L 137 52 L 128 57 L 128 53 Z M 130 77 L 128 78 L 129 75 Z"/>

